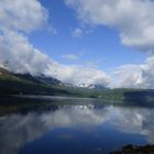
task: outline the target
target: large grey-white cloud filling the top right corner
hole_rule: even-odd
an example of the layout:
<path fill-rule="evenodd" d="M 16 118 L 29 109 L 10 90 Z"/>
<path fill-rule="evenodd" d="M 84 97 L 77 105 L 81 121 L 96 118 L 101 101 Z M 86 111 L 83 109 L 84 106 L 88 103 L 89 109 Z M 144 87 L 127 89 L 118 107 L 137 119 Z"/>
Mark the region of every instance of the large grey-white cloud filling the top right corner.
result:
<path fill-rule="evenodd" d="M 123 44 L 154 51 L 152 0 L 66 0 L 66 4 L 84 23 L 118 29 Z"/>

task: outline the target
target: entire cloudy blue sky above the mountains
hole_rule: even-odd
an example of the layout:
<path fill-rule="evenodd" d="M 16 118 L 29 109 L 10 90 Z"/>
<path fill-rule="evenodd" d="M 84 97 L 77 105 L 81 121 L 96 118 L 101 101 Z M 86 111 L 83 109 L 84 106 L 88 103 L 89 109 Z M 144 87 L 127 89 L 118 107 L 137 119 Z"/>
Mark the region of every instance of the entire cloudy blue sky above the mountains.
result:
<path fill-rule="evenodd" d="M 0 66 L 77 86 L 154 88 L 152 0 L 0 0 Z"/>

